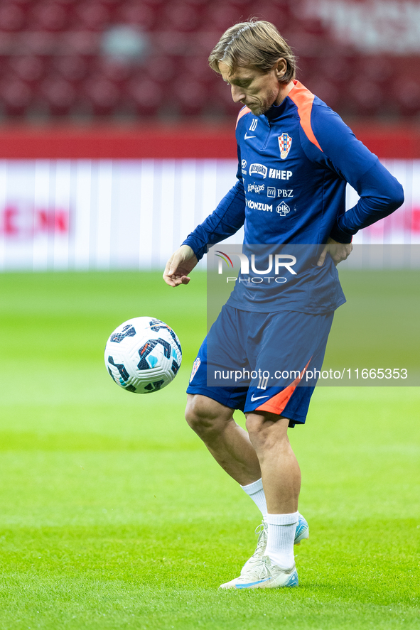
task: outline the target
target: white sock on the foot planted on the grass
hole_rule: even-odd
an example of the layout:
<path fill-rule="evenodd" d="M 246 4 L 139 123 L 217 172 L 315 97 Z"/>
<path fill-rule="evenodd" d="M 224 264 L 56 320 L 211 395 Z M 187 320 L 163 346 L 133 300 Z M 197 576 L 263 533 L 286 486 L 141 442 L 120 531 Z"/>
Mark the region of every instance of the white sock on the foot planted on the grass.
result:
<path fill-rule="evenodd" d="M 265 521 L 269 528 L 264 555 L 282 567 L 289 569 L 294 564 L 294 538 L 298 523 L 298 512 L 294 514 L 267 514 Z"/>

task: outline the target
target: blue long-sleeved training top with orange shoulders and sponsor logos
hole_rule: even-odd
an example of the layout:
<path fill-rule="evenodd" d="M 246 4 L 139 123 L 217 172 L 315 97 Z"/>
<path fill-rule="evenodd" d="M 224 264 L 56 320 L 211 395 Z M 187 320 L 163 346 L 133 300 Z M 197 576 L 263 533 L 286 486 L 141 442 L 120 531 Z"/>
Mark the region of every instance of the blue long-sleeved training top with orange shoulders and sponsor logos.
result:
<path fill-rule="evenodd" d="M 244 225 L 249 259 L 252 246 L 271 246 L 277 254 L 298 251 L 297 273 L 286 270 L 284 284 L 252 283 L 258 273 L 251 270 L 249 280 L 242 274 L 228 304 L 261 312 L 338 308 L 345 298 L 332 259 L 327 256 L 323 267 L 316 266 L 322 245 L 328 237 L 350 243 L 359 229 L 397 210 L 404 201 L 402 185 L 340 116 L 298 81 L 279 106 L 262 116 L 242 108 L 236 138 L 237 183 L 183 244 L 200 259 L 207 246 Z M 347 182 L 360 200 L 345 212 Z M 267 267 L 264 261 L 254 266 Z"/>

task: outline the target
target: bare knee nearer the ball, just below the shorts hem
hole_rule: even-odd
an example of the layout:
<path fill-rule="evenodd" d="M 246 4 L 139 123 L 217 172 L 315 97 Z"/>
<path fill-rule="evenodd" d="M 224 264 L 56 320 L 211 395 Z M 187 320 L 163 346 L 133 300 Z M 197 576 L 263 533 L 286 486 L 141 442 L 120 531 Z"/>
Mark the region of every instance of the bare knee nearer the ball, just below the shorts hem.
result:
<path fill-rule="evenodd" d="M 208 396 L 188 395 L 185 420 L 198 435 L 219 433 L 222 425 L 232 418 L 232 409 L 225 407 Z"/>

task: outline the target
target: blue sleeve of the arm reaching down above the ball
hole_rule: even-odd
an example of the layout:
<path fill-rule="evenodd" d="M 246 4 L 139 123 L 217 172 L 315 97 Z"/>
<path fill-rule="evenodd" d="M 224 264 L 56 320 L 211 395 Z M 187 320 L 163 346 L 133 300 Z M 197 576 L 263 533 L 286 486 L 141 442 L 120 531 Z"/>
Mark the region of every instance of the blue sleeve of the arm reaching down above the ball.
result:
<path fill-rule="evenodd" d="M 227 239 L 238 231 L 245 220 L 245 192 L 242 178 L 223 197 L 216 210 L 198 225 L 183 241 L 198 260 L 203 258 L 208 245 Z"/>

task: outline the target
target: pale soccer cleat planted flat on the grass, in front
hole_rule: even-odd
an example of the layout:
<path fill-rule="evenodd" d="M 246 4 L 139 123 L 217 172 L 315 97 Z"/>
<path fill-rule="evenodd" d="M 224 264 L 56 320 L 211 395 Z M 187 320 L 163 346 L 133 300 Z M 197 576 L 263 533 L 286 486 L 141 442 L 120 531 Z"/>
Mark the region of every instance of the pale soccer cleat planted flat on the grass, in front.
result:
<path fill-rule="evenodd" d="M 283 588 L 298 586 L 298 572 L 296 565 L 290 569 L 282 569 L 271 562 L 268 555 L 251 563 L 248 570 L 241 573 L 235 580 L 220 585 L 219 588 L 245 589 L 245 588 Z"/>

